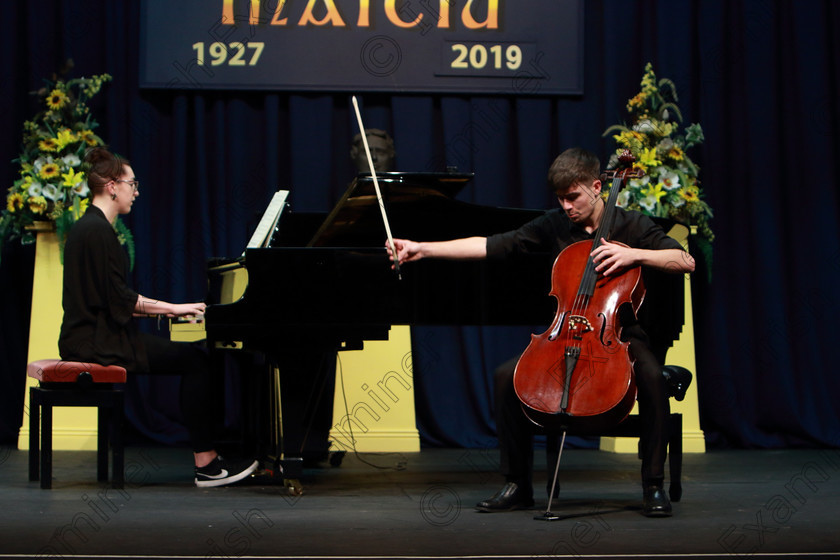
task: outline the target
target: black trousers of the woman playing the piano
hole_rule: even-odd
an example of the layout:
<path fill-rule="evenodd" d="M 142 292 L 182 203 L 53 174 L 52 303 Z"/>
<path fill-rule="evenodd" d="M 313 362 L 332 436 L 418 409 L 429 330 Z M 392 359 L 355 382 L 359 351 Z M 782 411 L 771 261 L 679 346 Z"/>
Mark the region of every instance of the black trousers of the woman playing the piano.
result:
<path fill-rule="evenodd" d="M 140 333 L 149 360 L 151 375 L 181 376 L 181 413 L 190 433 L 193 452 L 214 449 L 213 392 L 210 360 L 205 349 L 187 342 L 173 342 L 160 336 Z"/>

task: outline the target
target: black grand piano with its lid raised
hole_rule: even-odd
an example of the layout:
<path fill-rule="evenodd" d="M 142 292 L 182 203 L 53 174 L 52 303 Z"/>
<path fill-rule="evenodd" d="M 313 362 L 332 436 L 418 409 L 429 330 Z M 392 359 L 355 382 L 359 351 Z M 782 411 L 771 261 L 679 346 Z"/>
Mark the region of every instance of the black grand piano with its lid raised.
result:
<path fill-rule="evenodd" d="M 542 214 L 456 200 L 472 174 L 377 178 L 394 237 L 486 236 Z M 209 346 L 258 353 L 270 371 L 246 389 L 262 398 L 248 401 L 245 431 L 275 476 L 295 478 L 304 460 L 326 454 L 336 352 L 387 340 L 391 325 L 548 325 L 553 318 L 549 255 L 507 264 L 423 260 L 398 276 L 385 237 L 373 181 L 360 174 L 331 212 L 285 208 L 267 246 L 210 263 Z M 236 269 L 247 273 L 247 288 L 225 301 L 223 283 Z"/>

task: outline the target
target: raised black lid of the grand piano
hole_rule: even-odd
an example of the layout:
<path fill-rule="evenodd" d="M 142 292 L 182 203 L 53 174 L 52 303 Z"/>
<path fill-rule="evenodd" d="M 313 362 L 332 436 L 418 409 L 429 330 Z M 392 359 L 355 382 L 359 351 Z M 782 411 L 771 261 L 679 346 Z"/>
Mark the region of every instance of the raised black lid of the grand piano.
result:
<path fill-rule="evenodd" d="M 472 173 L 377 174 L 394 237 L 441 241 L 515 229 L 540 211 L 479 206 L 455 200 Z M 385 226 L 369 173 L 356 176 L 309 247 L 383 247 Z"/>

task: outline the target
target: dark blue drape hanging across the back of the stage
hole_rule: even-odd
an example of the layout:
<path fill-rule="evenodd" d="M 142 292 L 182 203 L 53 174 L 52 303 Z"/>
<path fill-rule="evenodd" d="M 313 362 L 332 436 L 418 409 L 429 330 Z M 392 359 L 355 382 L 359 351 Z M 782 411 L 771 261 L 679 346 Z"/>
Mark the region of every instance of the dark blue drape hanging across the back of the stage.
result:
<path fill-rule="evenodd" d="M 613 144 L 601 133 L 623 120 L 652 62 L 677 84 L 686 123 L 701 123 L 706 134 L 694 156 L 716 212 L 717 242 L 713 281 L 706 283 L 705 270 L 696 274 L 694 299 L 707 441 L 836 446 L 838 12 L 831 0 L 590 0 L 582 96 L 522 97 L 513 88 L 495 96 L 362 93 L 365 123 L 392 133 L 400 170 L 474 172 L 465 201 L 546 208 L 553 157 L 573 145 L 606 155 Z M 4 15 L 6 161 L 35 112 L 26 92 L 66 58 L 75 76 L 114 76 L 93 109 L 101 135 L 142 180 L 127 223 L 144 294 L 203 297 L 206 259 L 241 252 L 272 192 L 290 189 L 295 210 L 325 211 L 354 173 L 349 93 L 140 91 L 137 3 L 15 2 Z M 325 56 L 325 72 L 329 64 Z M 13 166 L 2 169 L 2 184 L 11 184 Z M 26 249 L 10 248 L 0 265 L 4 441 L 16 439 L 22 417 L 19 333 L 28 306 L 21 274 L 29 262 Z M 424 443 L 495 444 L 491 372 L 521 350 L 528 332 L 415 332 Z M 152 379 L 131 386 L 133 423 L 162 441 L 183 437 L 172 387 Z"/>

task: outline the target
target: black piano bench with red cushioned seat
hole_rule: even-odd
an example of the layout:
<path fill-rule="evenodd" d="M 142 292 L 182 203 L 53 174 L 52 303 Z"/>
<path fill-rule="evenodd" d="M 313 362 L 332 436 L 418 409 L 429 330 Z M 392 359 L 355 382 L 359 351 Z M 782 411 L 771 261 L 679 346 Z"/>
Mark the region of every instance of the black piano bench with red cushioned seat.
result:
<path fill-rule="evenodd" d="M 110 443 L 112 485 L 114 488 L 122 488 L 125 483 L 122 440 L 125 400 L 123 391 L 114 387 L 114 384 L 125 383 L 125 368 L 64 360 L 38 360 L 26 367 L 26 374 L 39 381 L 37 387 L 29 388 L 29 480 L 40 478 L 41 488 L 52 488 L 53 407 L 95 406 L 97 480 L 108 480 Z"/>

